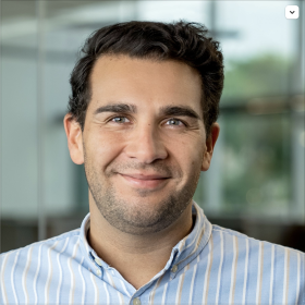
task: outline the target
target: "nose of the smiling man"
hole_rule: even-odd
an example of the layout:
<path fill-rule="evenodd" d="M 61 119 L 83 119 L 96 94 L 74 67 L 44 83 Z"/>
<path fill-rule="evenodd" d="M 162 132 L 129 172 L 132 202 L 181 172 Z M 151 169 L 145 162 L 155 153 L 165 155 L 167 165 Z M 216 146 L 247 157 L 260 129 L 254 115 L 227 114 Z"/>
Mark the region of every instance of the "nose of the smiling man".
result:
<path fill-rule="evenodd" d="M 160 133 L 152 124 L 138 125 L 132 132 L 125 152 L 130 158 L 136 158 L 142 163 L 151 163 L 168 157 Z"/>

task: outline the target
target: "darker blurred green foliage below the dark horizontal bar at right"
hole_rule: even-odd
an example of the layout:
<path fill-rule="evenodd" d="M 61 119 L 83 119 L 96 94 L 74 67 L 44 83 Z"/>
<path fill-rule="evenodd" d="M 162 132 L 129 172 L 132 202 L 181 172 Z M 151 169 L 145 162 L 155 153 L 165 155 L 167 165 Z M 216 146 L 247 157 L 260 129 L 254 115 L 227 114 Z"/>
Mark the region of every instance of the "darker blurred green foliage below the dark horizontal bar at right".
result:
<path fill-rule="evenodd" d="M 231 115 L 222 121 L 223 204 L 265 209 L 290 197 L 290 121 Z"/>

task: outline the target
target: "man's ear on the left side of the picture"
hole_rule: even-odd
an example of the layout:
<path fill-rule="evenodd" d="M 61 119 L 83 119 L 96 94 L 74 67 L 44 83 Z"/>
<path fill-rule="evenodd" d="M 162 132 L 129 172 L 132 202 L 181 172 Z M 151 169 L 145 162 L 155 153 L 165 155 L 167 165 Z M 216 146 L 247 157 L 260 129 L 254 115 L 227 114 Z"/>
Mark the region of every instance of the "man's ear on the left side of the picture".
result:
<path fill-rule="evenodd" d="M 72 118 L 71 113 L 63 119 L 64 131 L 68 138 L 70 157 L 75 164 L 84 163 L 83 132 L 78 122 Z"/>

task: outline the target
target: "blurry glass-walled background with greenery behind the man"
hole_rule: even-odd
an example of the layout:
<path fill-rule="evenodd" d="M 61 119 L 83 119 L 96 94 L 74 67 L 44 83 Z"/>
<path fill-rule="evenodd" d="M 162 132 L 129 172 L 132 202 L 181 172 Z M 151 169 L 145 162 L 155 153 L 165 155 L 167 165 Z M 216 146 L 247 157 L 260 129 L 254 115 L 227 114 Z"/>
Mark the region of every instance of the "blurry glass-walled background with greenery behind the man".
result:
<path fill-rule="evenodd" d="M 76 229 L 83 166 L 62 119 L 85 38 L 131 20 L 204 23 L 225 59 L 220 138 L 195 200 L 212 223 L 305 251 L 303 1 L 0 1 L 1 252 Z M 300 7 L 286 20 L 286 5 Z"/>

